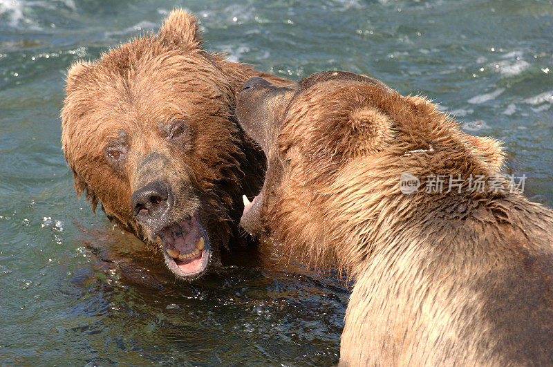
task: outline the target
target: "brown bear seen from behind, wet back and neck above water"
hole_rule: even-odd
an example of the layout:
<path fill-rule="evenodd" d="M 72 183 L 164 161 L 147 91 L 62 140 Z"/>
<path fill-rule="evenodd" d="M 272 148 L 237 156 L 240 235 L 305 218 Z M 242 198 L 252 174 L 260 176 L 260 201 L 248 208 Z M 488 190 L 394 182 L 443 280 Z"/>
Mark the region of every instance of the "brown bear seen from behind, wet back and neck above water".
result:
<path fill-rule="evenodd" d="M 336 71 L 250 79 L 236 115 L 268 158 L 243 227 L 355 281 L 342 365 L 553 364 L 553 211 L 499 174 L 498 142 Z"/>

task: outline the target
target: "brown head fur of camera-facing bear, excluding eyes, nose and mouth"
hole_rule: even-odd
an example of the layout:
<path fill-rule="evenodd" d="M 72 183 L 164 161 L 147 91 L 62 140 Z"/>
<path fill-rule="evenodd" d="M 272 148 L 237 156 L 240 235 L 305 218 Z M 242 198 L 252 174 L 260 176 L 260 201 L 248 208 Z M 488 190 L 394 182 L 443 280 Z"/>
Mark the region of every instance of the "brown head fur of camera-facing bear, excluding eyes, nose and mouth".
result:
<path fill-rule="evenodd" d="M 155 152 L 165 157 L 162 179 L 191 187 L 214 247 L 241 241 L 237 220 L 241 194 L 259 190 L 261 151 L 234 121 L 236 93 L 249 77 L 285 79 L 227 62 L 203 50 L 197 19 L 174 10 L 156 34 L 141 35 L 103 53 L 93 62 L 75 62 L 68 70 L 62 109 L 62 145 L 73 170 L 77 195 L 86 192 L 93 209 L 147 243 L 156 235 L 135 220 L 131 194 L 149 180 L 140 160 Z M 190 138 L 169 144 L 160 126 L 185 120 Z M 124 131 L 130 142 L 125 166 L 113 169 L 104 149 Z M 187 198 L 182 207 L 189 210 Z M 178 220 L 178 218 L 174 218 Z"/>

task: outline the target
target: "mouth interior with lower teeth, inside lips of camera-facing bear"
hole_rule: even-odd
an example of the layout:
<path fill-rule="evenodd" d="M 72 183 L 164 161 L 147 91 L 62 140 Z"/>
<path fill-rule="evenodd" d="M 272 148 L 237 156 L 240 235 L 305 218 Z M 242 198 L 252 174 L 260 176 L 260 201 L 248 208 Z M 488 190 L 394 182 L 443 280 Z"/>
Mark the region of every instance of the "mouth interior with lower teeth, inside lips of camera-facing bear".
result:
<path fill-rule="evenodd" d="M 195 272 L 200 267 L 205 237 L 198 214 L 165 227 L 159 235 L 165 251 L 182 272 Z"/>

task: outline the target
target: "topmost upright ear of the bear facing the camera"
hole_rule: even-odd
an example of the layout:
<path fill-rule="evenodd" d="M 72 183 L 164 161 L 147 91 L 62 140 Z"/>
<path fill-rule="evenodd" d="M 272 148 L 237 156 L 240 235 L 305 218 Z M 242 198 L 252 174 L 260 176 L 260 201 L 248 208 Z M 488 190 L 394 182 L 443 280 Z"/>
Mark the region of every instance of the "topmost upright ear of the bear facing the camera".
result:
<path fill-rule="evenodd" d="M 182 9 L 175 9 L 165 19 L 158 33 L 165 45 L 193 50 L 203 45 L 198 29 L 198 18 Z"/>

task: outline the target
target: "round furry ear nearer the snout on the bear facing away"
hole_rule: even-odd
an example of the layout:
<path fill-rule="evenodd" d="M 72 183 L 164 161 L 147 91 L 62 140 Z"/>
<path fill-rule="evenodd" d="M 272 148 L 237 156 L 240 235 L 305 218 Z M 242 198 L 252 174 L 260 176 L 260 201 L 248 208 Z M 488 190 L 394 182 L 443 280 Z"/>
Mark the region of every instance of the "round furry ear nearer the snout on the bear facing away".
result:
<path fill-rule="evenodd" d="M 350 154 L 363 156 L 381 151 L 393 137 L 392 120 L 373 106 L 350 112 L 344 141 Z"/>

